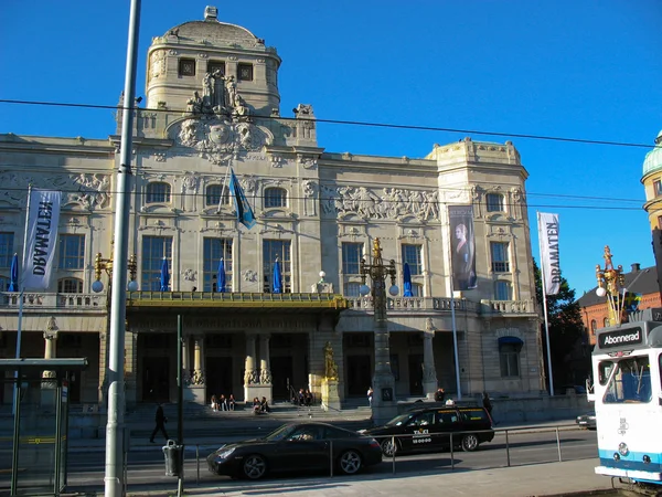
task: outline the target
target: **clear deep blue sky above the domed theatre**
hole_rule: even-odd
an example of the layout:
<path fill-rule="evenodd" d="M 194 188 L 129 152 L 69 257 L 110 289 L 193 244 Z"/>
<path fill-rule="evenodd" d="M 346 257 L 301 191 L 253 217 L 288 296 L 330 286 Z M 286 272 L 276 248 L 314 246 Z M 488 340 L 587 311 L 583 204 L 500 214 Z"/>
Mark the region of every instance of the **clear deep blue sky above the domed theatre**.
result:
<path fill-rule="evenodd" d="M 0 98 L 115 105 L 128 0 L 0 2 Z M 143 0 L 137 94 L 152 36 L 201 20 L 213 0 Z M 650 144 L 662 128 L 659 0 L 216 2 L 223 22 L 275 46 L 281 115 Z M 0 133 L 105 138 L 110 110 L 0 103 Z M 424 157 L 466 133 L 320 125 L 328 151 Z M 512 139 L 536 210 L 560 214 L 564 276 L 580 296 L 610 245 L 653 265 L 640 183 L 647 148 Z M 573 198 L 577 197 L 577 198 Z M 627 201 L 613 200 L 624 199 Z M 609 208 L 609 209 L 606 209 Z"/>

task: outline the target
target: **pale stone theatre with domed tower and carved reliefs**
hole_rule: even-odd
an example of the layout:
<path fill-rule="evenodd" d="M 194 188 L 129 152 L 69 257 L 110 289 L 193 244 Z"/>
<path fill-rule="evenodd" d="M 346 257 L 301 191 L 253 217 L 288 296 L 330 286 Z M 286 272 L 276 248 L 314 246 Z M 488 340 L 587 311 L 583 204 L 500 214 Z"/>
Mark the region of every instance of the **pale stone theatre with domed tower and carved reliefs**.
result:
<path fill-rule="evenodd" d="M 401 289 L 387 299 L 397 399 L 437 384 L 456 390 L 451 303 L 462 393 L 537 394 L 544 371 L 527 172 L 513 144 L 465 138 L 419 159 L 327 151 L 311 105 L 280 116 L 280 62 L 213 8 L 152 41 L 147 103 L 135 120 L 129 250 L 140 289 L 127 297 L 127 402 L 177 398 L 178 315 L 190 400 L 286 399 L 288 385 L 319 394 L 327 342 L 341 400 L 364 398 L 373 302 L 359 294 L 360 261 L 371 263 L 377 237 L 401 288 L 404 263 L 412 272 L 414 296 Z M 55 276 L 47 292 L 25 294 L 21 350 L 87 357 L 95 367 L 72 378 L 74 402 L 95 403 L 104 392 L 109 296 L 92 284 L 97 254 L 111 254 L 122 104 L 105 139 L 0 135 L 2 290 L 12 254 L 23 250 L 28 184 L 63 192 Z M 224 189 L 228 168 L 253 205 L 250 230 Z M 459 204 L 473 208 L 478 285 L 451 300 L 448 207 Z M 163 257 L 168 292 L 160 292 Z M 271 293 L 277 258 L 282 294 Z M 100 277 L 107 288 L 105 271 Z M 1 295 L 0 353 L 12 357 L 19 297 Z"/>

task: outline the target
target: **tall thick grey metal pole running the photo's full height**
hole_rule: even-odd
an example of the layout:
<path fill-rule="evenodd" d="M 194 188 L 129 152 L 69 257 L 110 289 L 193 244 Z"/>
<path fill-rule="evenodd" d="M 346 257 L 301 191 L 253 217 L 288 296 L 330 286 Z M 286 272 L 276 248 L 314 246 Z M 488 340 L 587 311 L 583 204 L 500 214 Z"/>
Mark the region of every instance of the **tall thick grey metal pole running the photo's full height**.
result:
<path fill-rule="evenodd" d="M 107 371 L 108 422 L 106 425 L 106 474 L 104 477 L 104 495 L 106 497 L 120 497 L 124 493 L 125 319 L 129 253 L 129 192 L 131 189 L 134 102 L 136 96 L 139 25 L 140 0 L 131 0 L 122 103 L 121 149 L 119 169 L 117 171 L 117 201 L 115 204 L 115 252 L 113 255 L 114 271 L 113 293 L 110 296 L 110 343 Z"/>

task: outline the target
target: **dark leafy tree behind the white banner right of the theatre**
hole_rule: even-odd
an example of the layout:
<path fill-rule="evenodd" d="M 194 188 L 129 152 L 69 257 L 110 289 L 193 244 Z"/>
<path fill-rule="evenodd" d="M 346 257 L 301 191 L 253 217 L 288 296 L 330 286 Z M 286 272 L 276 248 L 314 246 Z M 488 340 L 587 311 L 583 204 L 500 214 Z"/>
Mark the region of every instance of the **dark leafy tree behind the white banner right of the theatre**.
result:
<path fill-rule="evenodd" d="M 535 260 L 533 261 L 533 269 L 535 273 L 535 296 L 541 311 L 543 311 L 542 276 Z M 554 385 L 584 384 L 584 380 L 590 374 L 590 353 L 587 348 L 584 322 L 581 321 L 581 310 L 575 299 L 575 290 L 569 287 L 567 279 L 562 276 L 558 294 L 547 295 L 546 297 Z M 542 325 L 542 334 L 544 337 L 544 324 Z M 543 339 L 545 366 L 547 366 L 546 347 L 546 340 Z"/>

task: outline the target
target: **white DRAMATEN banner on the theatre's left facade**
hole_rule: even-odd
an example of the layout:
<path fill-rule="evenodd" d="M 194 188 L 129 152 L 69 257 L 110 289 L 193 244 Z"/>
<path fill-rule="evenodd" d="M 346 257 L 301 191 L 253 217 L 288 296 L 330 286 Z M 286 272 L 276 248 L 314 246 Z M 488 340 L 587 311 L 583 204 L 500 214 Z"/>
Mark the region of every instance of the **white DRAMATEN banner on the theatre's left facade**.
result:
<path fill-rule="evenodd" d="M 32 190 L 30 192 L 21 289 L 49 288 L 57 243 L 61 197 L 62 193 L 58 191 Z"/>

